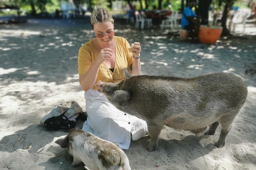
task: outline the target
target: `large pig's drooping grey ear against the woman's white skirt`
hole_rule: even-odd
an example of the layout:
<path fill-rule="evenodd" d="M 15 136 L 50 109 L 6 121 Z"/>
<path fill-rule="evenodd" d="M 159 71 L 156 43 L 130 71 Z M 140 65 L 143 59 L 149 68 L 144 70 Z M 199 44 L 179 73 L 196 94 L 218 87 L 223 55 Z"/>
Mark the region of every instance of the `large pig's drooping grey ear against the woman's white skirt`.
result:
<path fill-rule="evenodd" d="M 111 96 L 112 102 L 116 103 L 119 106 L 125 107 L 130 100 L 131 95 L 124 90 L 116 90 Z"/>

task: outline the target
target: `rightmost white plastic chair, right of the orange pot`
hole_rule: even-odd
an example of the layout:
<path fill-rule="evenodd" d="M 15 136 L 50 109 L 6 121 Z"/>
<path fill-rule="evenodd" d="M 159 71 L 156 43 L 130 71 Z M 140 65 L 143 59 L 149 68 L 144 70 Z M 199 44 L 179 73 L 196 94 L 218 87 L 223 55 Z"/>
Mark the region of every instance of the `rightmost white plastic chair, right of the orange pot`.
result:
<path fill-rule="evenodd" d="M 242 24 L 243 25 L 243 31 L 242 33 L 245 32 L 245 23 L 246 23 L 246 19 L 249 16 L 248 12 L 244 12 L 244 11 L 239 11 L 237 13 L 235 13 L 233 19 L 232 19 L 232 27 L 233 28 L 233 32 L 235 32 L 235 27 L 237 24 Z"/>

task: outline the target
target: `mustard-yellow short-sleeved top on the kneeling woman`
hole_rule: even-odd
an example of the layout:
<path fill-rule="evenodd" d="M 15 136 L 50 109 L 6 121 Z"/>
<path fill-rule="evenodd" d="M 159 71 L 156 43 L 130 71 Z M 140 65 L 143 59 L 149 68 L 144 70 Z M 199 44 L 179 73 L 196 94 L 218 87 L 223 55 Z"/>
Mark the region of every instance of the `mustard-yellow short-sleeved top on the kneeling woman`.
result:
<path fill-rule="evenodd" d="M 132 53 L 129 52 L 130 44 L 125 38 L 114 36 L 114 41 L 116 45 L 116 61 L 114 66 L 114 72 L 104 64 L 100 64 L 98 70 L 98 75 L 96 78 L 96 83 L 98 80 L 102 82 L 117 83 L 124 79 L 124 70 L 128 68 L 133 62 Z M 78 53 L 78 73 L 79 75 L 85 74 L 92 62 L 96 60 L 98 53 L 92 44 L 92 40 L 86 42 L 80 47 Z M 94 89 L 97 90 L 96 87 Z"/>

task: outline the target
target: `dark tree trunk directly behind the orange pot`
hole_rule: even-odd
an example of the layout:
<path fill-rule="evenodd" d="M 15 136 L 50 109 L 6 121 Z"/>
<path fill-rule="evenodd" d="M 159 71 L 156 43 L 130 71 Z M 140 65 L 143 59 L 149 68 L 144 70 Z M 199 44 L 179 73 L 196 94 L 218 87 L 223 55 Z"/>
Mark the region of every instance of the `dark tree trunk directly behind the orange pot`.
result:
<path fill-rule="evenodd" d="M 212 0 L 199 0 L 197 15 L 201 16 L 202 25 L 208 24 L 208 12 Z"/>

